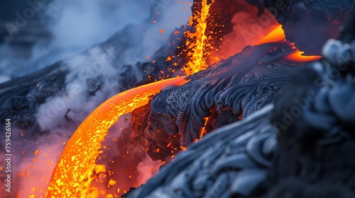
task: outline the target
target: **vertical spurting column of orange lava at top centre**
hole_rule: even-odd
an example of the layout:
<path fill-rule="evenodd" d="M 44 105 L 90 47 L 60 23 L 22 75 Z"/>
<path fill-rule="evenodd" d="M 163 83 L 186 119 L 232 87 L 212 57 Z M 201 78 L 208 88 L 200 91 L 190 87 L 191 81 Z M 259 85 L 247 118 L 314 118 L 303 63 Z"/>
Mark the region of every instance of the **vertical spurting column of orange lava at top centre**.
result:
<path fill-rule="evenodd" d="M 190 57 L 190 61 L 187 62 L 187 66 L 185 67 L 185 74 L 187 75 L 195 74 L 197 71 L 207 68 L 206 60 L 210 55 L 207 48 L 211 48 L 212 46 L 207 43 L 209 38 L 205 35 L 205 31 L 207 28 L 207 18 L 211 4 L 207 4 L 207 0 L 202 1 L 202 10 L 194 13 L 188 24 L 192 25 L 193 21 L 197 21 L 197 24 L 195 25 L 196 32 L 185 32 L 185 35 L 189 38 L 185 45 L 191 50 L 187 53 L 187 56 Z"/>

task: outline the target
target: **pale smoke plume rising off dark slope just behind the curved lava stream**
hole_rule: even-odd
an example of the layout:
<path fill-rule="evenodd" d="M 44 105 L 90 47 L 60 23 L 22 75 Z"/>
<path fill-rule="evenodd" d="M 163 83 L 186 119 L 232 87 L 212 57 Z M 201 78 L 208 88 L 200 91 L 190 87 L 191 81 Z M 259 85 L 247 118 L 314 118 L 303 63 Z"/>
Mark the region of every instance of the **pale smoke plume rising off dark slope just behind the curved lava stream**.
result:
<path fill-rule="evenodd" d="M 53 2 L 53 4 L 55 3 L 56 1 Z M 74 5 L 74 8 L 76 8 L 77 3 Z M 151 11 L 155 12 L 155 4 L 152 5 Z M 159 13 L 149 15 L 149 18 L 140 22 L 139 25 L 131 25 L 129 28 L 122 30 L 124 33 L 127 31 L 126 29 L 130 30 L 129 35 L 124 34 L 124 37 L 119 37 L 121 33 L 117 33 L 104 45 L 97 45 L 84 53 L 75 54 L 65 59 L 62 64 L 70 72 L 65 77 L 65 91 L 48 98 L 46 103 L 38 107 L 36 118 L 40 127 L 43 130 L 50 131 L 55 127 L 63 126 L 68 120 L 80 123 L 89 112 L 92 112 L 104 100 L 119 93 L 122 90 L 119 81 L 127 77 L 122 77 L 127 75 L 125 74 L 127 67 L 125 65 L 149 61 L 146 60 L 147 57 L 152 56 L 155 51 L 166 44 L 172 31 L 187 23 L 188 16 L 190 16 L 188 5 L 174 2 L 165 6 L 165 9 L 158 10 Z M 139 6 L 134 6 L 136 4 L 132 6 L 136 9 L 136 12 L 143 12 Z M 129 11 L 126 17 L 129 18 L 132 12 Z M 95 11 L 92 11 L 92 13 L 97 14 Z M 155 15 L 157 16 L 156 20 Z M 131 21 L 131 23 L 138 23 L 137 21 L 139 20 Z M 59 23 L 66 24 L 64 22 Z M 101 23 L 104 23 L 104 21 L 101 21 Z M 134 30 L 141 31 L 135 32 Z M 65 32 L 65 30 L 62 31 Z M 97 36 L 99 37 L 99 35 Z M 77 37 L 80 37 L 80 35 L 77 35 Z M 116 45 L 123 43 L 121 40 L 129 41 L 124 42 L 125 46 Z M 114 44 L 111 44 L 111 42 Z M 130 69 L 140 68 L 130 66 Z M 130 73 L 130 75 L 138 74 L 134 71 Z M 139 81 L 142 76 L 136 75 L 132 78 Z"/>

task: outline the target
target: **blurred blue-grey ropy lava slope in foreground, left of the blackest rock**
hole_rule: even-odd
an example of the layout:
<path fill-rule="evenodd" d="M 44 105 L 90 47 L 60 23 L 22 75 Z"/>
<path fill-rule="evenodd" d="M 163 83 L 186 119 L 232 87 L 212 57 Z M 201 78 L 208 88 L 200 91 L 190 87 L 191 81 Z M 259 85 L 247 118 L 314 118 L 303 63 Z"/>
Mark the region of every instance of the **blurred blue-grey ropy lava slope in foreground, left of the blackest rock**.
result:
<path fill-rule="evenodd" d="M 127 197 L 249 197 L 263 190 L 275 148 L 272 105 L 208 134 Z"/>

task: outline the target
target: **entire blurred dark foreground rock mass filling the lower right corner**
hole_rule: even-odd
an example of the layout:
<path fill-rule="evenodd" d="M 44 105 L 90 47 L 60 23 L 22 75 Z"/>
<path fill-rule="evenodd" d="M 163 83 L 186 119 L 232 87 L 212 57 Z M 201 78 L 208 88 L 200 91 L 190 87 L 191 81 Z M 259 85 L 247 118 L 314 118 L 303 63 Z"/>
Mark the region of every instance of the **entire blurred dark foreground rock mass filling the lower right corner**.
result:
<path fill-rule="evenodd" d="M 354 25 L 272 105 L 207 134 L 125 196 L 355 197 Z"/>

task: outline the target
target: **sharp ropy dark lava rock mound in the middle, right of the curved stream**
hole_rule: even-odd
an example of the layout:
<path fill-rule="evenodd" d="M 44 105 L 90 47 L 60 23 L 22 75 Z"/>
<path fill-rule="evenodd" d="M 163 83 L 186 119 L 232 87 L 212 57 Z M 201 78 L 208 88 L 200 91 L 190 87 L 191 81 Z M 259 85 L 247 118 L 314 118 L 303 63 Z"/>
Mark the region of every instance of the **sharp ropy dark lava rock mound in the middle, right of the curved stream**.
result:
<path fill-rule="evenodd" d="M 248 117 L 271 103 L 295 69 L 310 63 L 289 59 L 293 52 L 290 42 L 249 46 L 188 77 L 185 85 L 162 91 L 151 100 L 146 133 L 178 133 L 181 145 L 188 146 L 201 138 L 203 127 L 212 130 Z"/>

